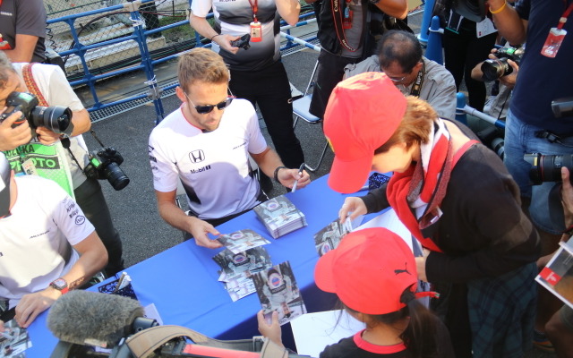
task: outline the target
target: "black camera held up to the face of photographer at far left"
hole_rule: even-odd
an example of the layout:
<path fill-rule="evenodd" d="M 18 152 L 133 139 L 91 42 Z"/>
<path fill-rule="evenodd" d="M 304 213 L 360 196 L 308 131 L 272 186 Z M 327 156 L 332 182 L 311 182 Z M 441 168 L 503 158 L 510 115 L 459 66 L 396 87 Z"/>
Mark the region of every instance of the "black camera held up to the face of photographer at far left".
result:
<path fill-rule="evenodd" d="M 14 122 L 14 127 L 23 124 L 25 118 L 33 129 L 46 127 L 55 133 L 72 135 L 72 110 L 68 107 L 38 106 L 38 98 L 36 96 L 15 91 L 6 98 L 6 107 L 6 111 L 0 115 L 0 123 L 4 122 L 14 112 L 21 111 L 23 116 L 20 120 Z"/>

